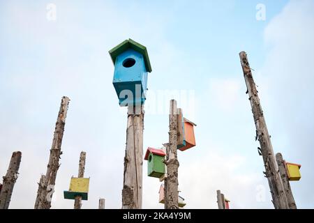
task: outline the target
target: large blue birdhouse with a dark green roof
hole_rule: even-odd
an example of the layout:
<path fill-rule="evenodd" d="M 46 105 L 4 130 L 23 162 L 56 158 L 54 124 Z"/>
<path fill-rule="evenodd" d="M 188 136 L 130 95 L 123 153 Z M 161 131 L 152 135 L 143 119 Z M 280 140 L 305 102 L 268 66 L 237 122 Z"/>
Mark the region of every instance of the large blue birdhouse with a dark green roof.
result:
<path fill-rule="evenodd" d="M 114 63 L 114 89 L 120 106 L 143 105 L 147 92 L 147 73 L 151 63 L 147 49 L 128 39 L 109 52 Z"/>

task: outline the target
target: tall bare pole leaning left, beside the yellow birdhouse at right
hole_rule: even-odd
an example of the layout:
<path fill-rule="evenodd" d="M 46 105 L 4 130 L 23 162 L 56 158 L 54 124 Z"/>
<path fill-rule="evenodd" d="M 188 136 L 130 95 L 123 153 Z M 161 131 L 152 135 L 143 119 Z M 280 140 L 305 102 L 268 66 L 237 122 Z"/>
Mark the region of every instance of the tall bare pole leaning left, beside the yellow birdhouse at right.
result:
<path fill-rule="evenodd" d="M 287 198 L 281 182 L 281 176 L 278 171 L 273 147 L 271 146 L 271 139 L 267 130 L 267 125 L 264 119 L 262 107 L 260 105 L 260 98 L 258 98 L 257 89 L 253 80 L 250 65 L 246 52 L 240 52 L 241 66 L 244 72 L 244 79 L 246 81 L 247 93 L 251 102 L 253 117 L 256 127 L 256 139 L 260 141 L 260 151 L 264 160 L 265 176 L 267 177 L 269 188 L 271 190 L 271 197 L 276 209 L 287 209 Z"/>

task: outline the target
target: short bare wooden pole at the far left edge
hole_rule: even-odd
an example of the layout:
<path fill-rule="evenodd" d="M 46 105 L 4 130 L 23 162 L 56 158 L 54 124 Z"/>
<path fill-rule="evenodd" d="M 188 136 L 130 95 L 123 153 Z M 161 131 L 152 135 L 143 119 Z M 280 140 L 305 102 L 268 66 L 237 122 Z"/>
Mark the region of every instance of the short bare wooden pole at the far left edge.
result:
<path fill-rule="evenodd" d="M 20 151 L 12 154 L 6 176 L 3 176 L 3 185 L 0 191 L 0 209 L 8 209 L 12 197 L 13 187 L 17 180 L 22 153 Z"/>

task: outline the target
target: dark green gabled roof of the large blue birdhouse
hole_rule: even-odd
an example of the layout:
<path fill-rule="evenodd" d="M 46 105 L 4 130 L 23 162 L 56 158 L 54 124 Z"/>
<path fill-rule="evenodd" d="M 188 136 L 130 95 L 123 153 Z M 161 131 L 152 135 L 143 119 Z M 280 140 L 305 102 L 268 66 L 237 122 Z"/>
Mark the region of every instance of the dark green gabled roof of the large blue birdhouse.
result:
<path fill-rule="evenodd" d="M 149 62 L 149 56 L 146 47 L 144 47 L 140 43 L 136 43 L 134 40 L 131 39 L 124 40 L 124 42 L 117 45 L 117 47 L 110 49 L 109 54 L 111 56 L 112 62 L 115 63 L 117 56 L 119 54 L 122 54 L 129 48 L 134 49 L 135 51 L 139 52 L 144 56 L 146 70 L 147 72 L 151 72 L 151 62 Z"/>

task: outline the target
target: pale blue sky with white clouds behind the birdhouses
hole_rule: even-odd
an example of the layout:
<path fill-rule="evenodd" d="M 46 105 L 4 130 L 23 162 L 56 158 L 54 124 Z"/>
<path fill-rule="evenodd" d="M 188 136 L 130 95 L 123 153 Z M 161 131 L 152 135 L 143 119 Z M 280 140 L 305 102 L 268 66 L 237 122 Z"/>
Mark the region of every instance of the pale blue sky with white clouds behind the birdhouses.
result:
<path fill-rule="evenodd" d="M 52 208 L 87 152 L 82 208 L 121 208 L 126 109 L 112 85 L 108 51 L 132 38 L 147 47 L 144 148 L 168 140 L 169 100 L 194 123 L 197 145 L 178 151 L 185 208 L 273 208 L 239 52 L 246 51 L 274 153 L 301 164 L 290 182 L 298 208 L 314 208 L 314 1 L 0 0 L 0 175 L 22 151 L 10 208 L 33 208 L 63 95 L 70 98 Z M 158 203 L 143 163 L 143 208 Z"/>

